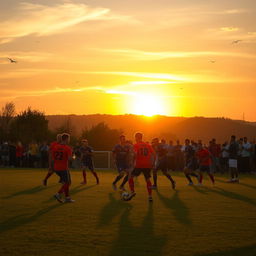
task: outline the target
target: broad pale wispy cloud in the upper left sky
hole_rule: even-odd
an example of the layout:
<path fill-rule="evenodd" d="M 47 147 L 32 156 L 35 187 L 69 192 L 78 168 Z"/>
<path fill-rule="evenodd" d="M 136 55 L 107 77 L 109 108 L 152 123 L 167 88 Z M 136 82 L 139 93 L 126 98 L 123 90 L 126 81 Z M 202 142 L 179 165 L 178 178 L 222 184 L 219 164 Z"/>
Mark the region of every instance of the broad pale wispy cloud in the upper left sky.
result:
<path fill-rule="evenodd" d="M 15 16 L 0 22 L 0 44 L 17 37 L 59 33 L 76 24 L 97 20 L 127 20 L 127 16 L 110 13 L 108 8 L 64 2 L 57 5 L 20 3 Z"/>

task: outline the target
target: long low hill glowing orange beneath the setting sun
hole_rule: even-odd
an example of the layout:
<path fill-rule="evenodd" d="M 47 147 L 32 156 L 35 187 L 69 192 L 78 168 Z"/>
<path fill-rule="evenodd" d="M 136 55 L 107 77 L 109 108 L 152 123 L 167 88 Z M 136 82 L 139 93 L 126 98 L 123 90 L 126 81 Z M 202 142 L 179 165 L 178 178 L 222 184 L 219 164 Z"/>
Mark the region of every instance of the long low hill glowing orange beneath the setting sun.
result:
<path fill-rule="evenodd" d="M 237 137 L 247 136 L 250 140 L 256 138 L 255 123 L 231 120 L 226 118 L 204 117 L 145 117 L 138 115 L 49 115 L 50 129 L 54 130 L 65 122 L 73 126 L 74 134 L 80 135 L 82 130 L 91 128 L 100 122 L 105 122 L 109 127 L 122 129 L 129 138 L 133 138 L 136 131 L 142 131 L 149 140 L 153 137 L 166 139 L 193 138 L 207 142 L 216 138 L 224 142 L 235 134 Z"/>

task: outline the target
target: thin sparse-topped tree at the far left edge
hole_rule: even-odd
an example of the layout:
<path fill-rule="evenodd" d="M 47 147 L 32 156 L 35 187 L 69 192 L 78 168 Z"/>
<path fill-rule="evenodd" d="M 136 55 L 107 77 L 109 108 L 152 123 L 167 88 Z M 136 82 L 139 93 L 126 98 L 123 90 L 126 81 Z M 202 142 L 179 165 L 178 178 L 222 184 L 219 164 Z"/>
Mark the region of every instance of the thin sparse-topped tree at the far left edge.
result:
<path fill-rule="evenodd" d="M 9 128 L 10 123 L 15 115 L 15 105 L 13 102 L 7 102 L 1 109 L 0 112 L 0 132 L 1 140 L 9 139 Z"/>

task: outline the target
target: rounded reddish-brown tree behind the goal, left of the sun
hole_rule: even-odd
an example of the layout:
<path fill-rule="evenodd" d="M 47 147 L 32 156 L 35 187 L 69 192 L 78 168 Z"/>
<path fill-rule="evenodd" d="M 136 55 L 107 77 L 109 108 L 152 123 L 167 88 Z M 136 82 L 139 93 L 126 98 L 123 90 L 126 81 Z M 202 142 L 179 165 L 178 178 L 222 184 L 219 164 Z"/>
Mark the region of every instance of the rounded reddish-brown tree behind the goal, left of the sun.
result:
<path fill-rule="evenodd" d="M 84 130 L 81 138 L 86 138 L 94 150 L 112 150 L 122 133 L 122 130 L 110 129 L 102 122 Z"/>

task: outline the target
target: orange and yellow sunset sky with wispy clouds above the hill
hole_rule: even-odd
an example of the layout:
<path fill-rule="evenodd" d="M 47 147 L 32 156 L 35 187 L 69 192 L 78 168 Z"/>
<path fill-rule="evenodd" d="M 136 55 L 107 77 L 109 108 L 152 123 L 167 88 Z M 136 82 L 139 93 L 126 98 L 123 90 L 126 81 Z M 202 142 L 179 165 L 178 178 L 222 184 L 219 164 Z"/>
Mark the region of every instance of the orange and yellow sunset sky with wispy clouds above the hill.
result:
<path fill-rule="evenodd" d="M 256 121 L 256 1 L 0 1 L 0 88 L 17 112 Z"/>

